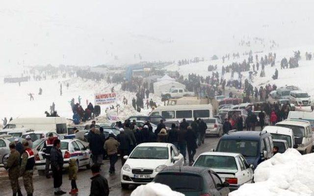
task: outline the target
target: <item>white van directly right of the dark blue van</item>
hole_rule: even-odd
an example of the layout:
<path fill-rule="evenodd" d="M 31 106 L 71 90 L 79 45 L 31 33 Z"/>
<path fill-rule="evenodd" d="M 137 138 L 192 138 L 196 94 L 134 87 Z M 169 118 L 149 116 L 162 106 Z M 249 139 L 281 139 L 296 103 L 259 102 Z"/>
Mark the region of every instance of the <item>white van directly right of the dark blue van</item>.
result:
<path fill-rule="evenodd" d="M 294 145 L 294 135 L 290 128 L 279 126 L 266 126 L 262 131 L 270 133 L 273 140 L 286 140 L 289 148 L 297 147 Z"/>

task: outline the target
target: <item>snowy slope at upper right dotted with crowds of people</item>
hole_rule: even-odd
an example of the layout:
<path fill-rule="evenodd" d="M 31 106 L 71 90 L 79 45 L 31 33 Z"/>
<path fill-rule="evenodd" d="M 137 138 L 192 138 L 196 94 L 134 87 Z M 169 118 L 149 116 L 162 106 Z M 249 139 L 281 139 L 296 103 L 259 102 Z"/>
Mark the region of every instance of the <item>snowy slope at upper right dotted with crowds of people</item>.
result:
<path fill-rule="evenodd" d="M 289 59 L 289 57 L 293 56 L 293 51 L 300 50 L 301 52 L 301 60 L 299 61 L 299 67 L 293 68 L 293 69 L 284 69 L 281 70 L 280 68 L 280 61 L 283 57 L 286 57 Z M 302 90 L 307 91 L 312 97 L 314 96 L 314 86 L 312 85 L 314 83 L 314 77 L 313 77 L 313 71 L 314 71 L 314 60 L 305 60 L 305 53 L 306 52 L 312 52 L 314 51 L 314 47 L 307 46 L 307 47 L 295 47 L 295 48 L 287 48 L 287 49 L 281 49 L 281 50 L 275 50 L 275 51 L 267 51 L 264 53 L 259 53 L 259 59 L 261 56 L 268 55 L 268 52 L 276 53 L 276 64 L 274 67 L 271 67 L 270 65 L 265 66 L 265 75 L 266 77 L 260 78 L 260 71 L 259 70 L 257 77 L 253 79 L 253 86 L 259 87 L 260 85 L 265 86 L 265 84 L 276 84 L 278 87 L 284 86 L 284 85 L 296 85 L 299 86 Z M 253 51 L 253 63 L 256 64 L 255 61 L 255 55 Z M 248 56 L 242 56 L 240 55 L 240 58 L 236 58 L 235 60 L 230 58 L 230 60 L 226 61 L 225 63 L 222 63 L 221 59 L 218 60 L 208 60 L 204 62 L 199 63 L 192 63 L 187 65 L 181 65 L 178 66 L 177 64 L 172 64 L 166 67 L 169 71 L 176 71 L 178 70 L 181 75 L 183 75 L 184 78 L 188 77 L 188 74 L 195 73 L 200 76 L 206 77 L 211 76 L 211 72 L 209 72 L 208 66 L 209 65 L 216 65 L 217 64 L 217 71 L 219 73 L 219 76 L 221 76 L 221 68 L 222 66 L 227 66 L 231 64 L 232 62 L 243 62 L 243 60 L 248 59 Z M 278 69 L 278 80 L 273 80 L 271 77 L 273 76 L 275 69 Z M 253 71 L 253 68 L 251 66 L 251 71 Z M 244 84 L 244 80 L 249 78 L 248 72 L 242 72 L 242 75 L 244 78 L 242 79 L 242 84 Z M 234 79 L 237 79 L 237 73 L 235 73 Z M 230 80 L 231 73 L 225 74 L 226 81 Z"/>

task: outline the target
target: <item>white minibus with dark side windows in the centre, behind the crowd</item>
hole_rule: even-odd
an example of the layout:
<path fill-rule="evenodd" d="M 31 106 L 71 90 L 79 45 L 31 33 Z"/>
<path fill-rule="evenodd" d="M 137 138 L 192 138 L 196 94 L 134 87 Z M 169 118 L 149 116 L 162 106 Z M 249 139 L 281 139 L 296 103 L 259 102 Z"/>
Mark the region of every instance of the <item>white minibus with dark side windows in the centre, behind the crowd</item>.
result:
<path fill-rule="evenodd" d="M 167 120 L 179 120 L 183 118 L 186 120 L 194 120 L 197 118 L 212 118 L 211 104 L 199 105 L 172 105 L 172 106 L 159 106 L 150 116 L 161 115 Z"/>

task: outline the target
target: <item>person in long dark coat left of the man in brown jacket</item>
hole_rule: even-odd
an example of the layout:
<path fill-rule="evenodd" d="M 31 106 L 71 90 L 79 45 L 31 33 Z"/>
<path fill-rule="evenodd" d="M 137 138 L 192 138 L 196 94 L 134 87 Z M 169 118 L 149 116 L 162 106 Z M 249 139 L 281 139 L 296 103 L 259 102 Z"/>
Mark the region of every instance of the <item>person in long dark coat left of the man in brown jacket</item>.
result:
<path fill-rule="evenodd" d="M 95 125 L 90 125 L 90 131 L 87 135 L 89 142 L 89 149 L 92 153 L 93 163 L 103 164 L 103 140 L 100 132 L 95 129 Z"/>

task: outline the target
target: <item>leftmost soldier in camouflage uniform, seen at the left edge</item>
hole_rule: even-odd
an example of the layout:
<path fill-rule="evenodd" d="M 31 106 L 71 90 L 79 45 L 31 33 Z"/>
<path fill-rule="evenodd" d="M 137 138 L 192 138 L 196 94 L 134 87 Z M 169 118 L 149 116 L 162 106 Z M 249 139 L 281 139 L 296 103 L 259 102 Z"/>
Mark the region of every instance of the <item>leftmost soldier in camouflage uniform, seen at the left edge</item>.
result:
<path fill-rule="evenodd" d="M 9 144 L 9 146 L 12 145 L 15 146 L 15 143 L 11 142 Z M 16 196 L 17 193 L 19 196 L 22 196 L 21 188 L 19 185 L 20 157 L 20 153 L 16 149 L 12 149 L 9 155 L 9 159 L 7 161 L 7 165 L 5 166 L 5 168 L 8 169 L 13 196 Z"/>

